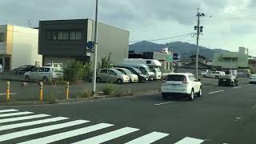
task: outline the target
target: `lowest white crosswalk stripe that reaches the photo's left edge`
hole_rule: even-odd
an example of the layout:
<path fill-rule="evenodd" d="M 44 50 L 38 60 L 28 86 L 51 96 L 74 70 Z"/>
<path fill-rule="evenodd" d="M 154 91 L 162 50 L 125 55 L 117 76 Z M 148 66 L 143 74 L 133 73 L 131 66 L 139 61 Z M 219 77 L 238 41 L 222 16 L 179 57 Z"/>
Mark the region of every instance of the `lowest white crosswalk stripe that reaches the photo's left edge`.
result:
<path fill-rule="evenodd" d="M 31 134 L 43 133 L 50 130 L 58 130 L 65 127 L 76 126 L 86 122 L 89 122 L 89 121 L 77 120 L 77 121 L 65 122 L 57 125 L 38 127 L 30 130 L 22 130 L 22 131 L 10 133 L 10 134 L 3 134 L 3 135 L 0 135 L 0 142 L 7 141 L 14 138 L 24 137 Z"/>

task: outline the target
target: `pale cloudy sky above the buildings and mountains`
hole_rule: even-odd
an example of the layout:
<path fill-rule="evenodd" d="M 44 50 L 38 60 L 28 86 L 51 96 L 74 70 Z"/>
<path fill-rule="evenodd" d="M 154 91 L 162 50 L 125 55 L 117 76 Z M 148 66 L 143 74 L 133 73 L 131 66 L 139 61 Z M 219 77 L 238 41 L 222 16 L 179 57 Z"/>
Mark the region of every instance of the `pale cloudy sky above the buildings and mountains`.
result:
<path fill-rule="evenodd" d="M 39 20 L 94 18 L 95 0 L 1 0 L 0 24 L 38 26 Z M 194 32 L 197 8 L 204 32 L 201 46 L 237 51 L 246 46 L 256 56 L 255 0 L 99 0 L 99 20 L 130 31 L 130 42 L 170 38 Z M 210 18 L 210 15 L 212 17 Z M 166 42 L 195 43 L 185 36 Z"/>

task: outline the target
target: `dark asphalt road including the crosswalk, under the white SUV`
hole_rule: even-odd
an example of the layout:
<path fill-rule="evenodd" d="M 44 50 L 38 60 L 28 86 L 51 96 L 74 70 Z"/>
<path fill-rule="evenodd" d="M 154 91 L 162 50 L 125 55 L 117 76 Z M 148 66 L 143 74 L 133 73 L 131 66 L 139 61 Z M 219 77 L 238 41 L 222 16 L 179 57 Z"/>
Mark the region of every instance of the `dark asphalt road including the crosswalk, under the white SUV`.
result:
<path fill-rule="evenodd" d="M 255 87 L 204 86 L 202 98 L 193 102 L 164 101 L 161 94 L 149 94 L 46 106 L 1 106 L 0 143 L 252 144 L 256 142 Z M 13 109 L 19 111 L 2 111 Z M 33 114 L 20 113 L 26 111 Z"/>

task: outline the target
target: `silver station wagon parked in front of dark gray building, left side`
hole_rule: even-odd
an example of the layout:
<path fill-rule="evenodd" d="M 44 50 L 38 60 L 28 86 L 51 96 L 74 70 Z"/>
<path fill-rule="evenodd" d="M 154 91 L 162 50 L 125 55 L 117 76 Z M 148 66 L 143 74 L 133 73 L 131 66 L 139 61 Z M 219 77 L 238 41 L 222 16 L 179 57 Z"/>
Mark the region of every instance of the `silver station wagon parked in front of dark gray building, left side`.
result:
<path fill-rule="evenodd" d="M 59 67 L 36 67 L 24 74 L 25 80 L 37 80 L 42 82 L 50 82 L 58 78 L 63 78 L 64 70 Z"/>

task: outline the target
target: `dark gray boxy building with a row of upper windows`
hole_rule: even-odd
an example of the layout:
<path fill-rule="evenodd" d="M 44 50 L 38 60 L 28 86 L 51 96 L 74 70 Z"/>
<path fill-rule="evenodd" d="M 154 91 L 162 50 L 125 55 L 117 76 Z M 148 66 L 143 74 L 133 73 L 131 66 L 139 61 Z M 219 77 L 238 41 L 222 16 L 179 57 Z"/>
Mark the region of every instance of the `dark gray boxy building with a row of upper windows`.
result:
<path fill-rule="evenodd" d="M 94 41 L 95 22 L 90 19 L 39 22 L 38 53 L 43 64 L 50 62 L 92 62 L 86 54 L 86 42 Z M 98 62 L 111 53 L 112 62 L 128 58 L 130 33 L 114 26 L 98 23 Z M 114 55 L 114 56 L 113 56 Z"/>

